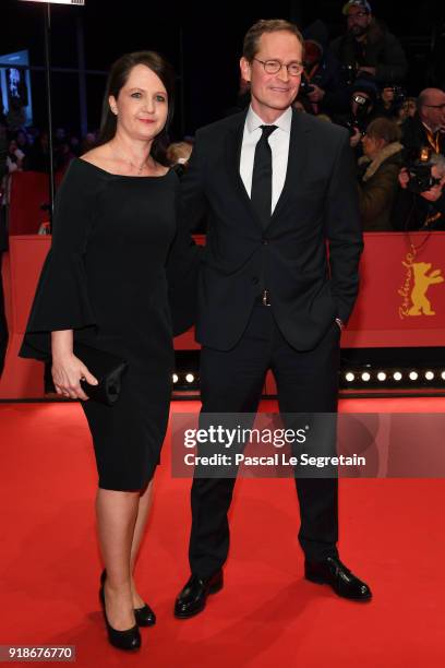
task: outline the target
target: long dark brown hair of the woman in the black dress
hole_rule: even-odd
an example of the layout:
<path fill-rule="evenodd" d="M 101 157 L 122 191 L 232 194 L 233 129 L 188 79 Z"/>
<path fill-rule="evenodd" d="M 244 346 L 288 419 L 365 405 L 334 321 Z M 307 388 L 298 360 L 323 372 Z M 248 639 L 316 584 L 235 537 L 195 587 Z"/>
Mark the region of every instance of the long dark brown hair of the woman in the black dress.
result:
<path fill-rule="evenodd" d="M 104 97 L 99 141 L 97 145 L 100 146 L 101 144 L 106 144 L 112 140 L 116 134 L 117 118 L 110 109 L 108 98 L 110 95 L 112 95 L 116 97 L 116 99 L 118 99 L 121 88 L 125 85 L 130 76 L 130 72 L 139 64 L 147 67 L 149 70 L 152 70 L 152 72 L 159 76 L 167 91 L 167 121 L 163 131 L 155 138 L 152 145 L 152 156 L 156 162 L 167 166 L 168 163 L 166 159 L 166 151 L 169 144 L 168 129 L 173 116 L 175 107 L 175 72 L 170 63 L 167 62 L 163 56 L 156 53 L 156 51 L 135 51 L 133 53 L 125 53 L 112 64 L 108 75 L 107 88 Z"/>

